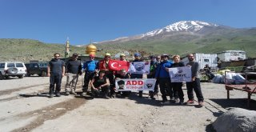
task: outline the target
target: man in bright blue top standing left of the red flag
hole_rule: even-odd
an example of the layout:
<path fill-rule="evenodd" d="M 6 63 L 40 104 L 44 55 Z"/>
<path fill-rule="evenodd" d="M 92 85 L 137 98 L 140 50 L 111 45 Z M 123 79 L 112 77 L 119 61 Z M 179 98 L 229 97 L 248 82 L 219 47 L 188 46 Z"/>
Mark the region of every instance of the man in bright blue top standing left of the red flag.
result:
<path fill-rule="evenodd" d="M 95 55 L 89 55 L 89 61 L 83 64 L 83 69 L 85 70 L 84 85 L 82 86 L 82 96 L 86 96 L 88 90 L 88 84 L 94 75 L 98 72 L 98 62 L 94 61 Z"/>

